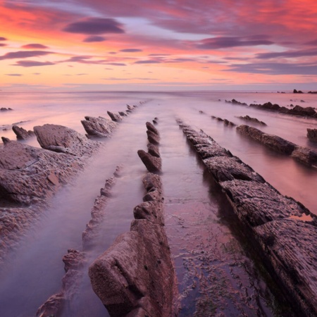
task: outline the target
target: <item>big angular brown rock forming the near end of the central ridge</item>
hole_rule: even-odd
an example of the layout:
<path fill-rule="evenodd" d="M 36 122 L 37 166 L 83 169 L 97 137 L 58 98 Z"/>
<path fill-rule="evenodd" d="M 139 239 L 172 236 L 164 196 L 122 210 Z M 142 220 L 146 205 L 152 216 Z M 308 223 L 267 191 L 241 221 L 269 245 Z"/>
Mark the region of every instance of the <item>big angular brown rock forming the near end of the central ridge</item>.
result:
<path fill-rule="evenodd" d="M 120 235 L 89 267 L 94 292 L 116 316 L 175 316 L 175 272 L 163 228 L 161 180 L 148 173 L 143 179 L 154 199 L 135 207 L 130 232 Z"/>

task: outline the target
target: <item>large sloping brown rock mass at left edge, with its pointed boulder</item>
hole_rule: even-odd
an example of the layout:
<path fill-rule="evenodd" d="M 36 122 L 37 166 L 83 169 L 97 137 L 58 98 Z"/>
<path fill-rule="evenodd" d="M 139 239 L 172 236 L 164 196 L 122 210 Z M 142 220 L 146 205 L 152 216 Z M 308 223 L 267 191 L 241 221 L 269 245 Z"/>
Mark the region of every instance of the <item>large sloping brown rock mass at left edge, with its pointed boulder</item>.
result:
<path fill-rule="evenodd" d="M 2 138 L 0 261 L 8 248 L 12 249 L 18 244 L 23 232 L 34 225 L 57 190 L 82 170 L 89 156 L 100 147 L 99 142 L 85 139 L 75 131 L 55 127 L 57 130 L 52 129 L 53 125 L 37 127 L 35 130 L 44 147 L 59 147 L 64 153 Z M 64 135 L 59 133 L 61 131 Z M 53 143 L 54 140 L 56 143 Z"/>

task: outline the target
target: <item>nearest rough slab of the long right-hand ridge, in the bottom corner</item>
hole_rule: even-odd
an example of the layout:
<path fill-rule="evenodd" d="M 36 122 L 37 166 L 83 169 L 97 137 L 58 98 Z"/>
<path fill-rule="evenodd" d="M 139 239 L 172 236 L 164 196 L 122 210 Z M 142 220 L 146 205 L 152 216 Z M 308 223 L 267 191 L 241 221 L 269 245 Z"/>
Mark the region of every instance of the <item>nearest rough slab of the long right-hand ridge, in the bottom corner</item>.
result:
<path fill-rule="evenodd" d="M 280 279 L 302 303 L 302 316 L 316 316 L 316 226 L 300 220 L 278 220 L 255 228 L 255 232 Z"/>

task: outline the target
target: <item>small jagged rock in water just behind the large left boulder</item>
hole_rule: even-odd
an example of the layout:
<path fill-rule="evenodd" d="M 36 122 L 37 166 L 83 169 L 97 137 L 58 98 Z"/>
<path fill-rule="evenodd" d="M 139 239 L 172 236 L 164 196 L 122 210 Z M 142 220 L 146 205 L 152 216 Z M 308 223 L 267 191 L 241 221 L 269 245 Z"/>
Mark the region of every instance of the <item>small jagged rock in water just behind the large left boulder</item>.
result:
<path fill-rule="evenodd" d="M 85 120 L 82 120 L 81 123 L 87 132 L 87 137 L 109 137 L 117 126 L 113 120 L 102 117 L 85 116 Z"/>

